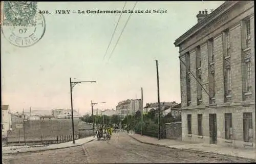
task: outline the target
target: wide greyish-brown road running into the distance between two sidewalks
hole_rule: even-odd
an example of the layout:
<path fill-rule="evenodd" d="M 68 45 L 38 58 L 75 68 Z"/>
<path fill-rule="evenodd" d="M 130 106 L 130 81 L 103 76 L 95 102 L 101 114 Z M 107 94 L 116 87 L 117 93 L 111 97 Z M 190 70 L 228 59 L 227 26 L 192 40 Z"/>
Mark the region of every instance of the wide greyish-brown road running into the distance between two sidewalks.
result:
<path fill-rule="evenodd" d="M 124 132 L 114 134 L 111 140 L 94 140 L 79 147 L 3 156 L 3 161 L 6 164 L 252 162 L 235 157 L 146 145 Z"/>

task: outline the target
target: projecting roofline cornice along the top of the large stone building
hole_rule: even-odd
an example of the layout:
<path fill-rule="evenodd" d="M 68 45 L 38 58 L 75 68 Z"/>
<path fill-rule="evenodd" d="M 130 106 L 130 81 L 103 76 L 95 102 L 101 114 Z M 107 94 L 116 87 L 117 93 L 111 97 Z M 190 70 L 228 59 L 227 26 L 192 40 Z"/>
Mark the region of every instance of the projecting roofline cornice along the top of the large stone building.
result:
<path fill-rule="evenodd" d="M 182 36 L 176 39 L 174 42 L 175 46 L 179 46 L 180 43 L 182 43 L 185 39 L 196 34 L 200 29 L 207 26 L 210 22 L 212 22 L 214 19 L 225 13 L 227 10 L 229 10 L 237 3 L 239 3 L 239 1 L 226 1 L 225 3 L 223 3 L 220 7 L 218 7 L 216 10 L 214 10 L 212 13 L 206 16 L 203 20 L 201 20 L 195 26 L 193 26 L 191 29 L 185 32 Z"/>

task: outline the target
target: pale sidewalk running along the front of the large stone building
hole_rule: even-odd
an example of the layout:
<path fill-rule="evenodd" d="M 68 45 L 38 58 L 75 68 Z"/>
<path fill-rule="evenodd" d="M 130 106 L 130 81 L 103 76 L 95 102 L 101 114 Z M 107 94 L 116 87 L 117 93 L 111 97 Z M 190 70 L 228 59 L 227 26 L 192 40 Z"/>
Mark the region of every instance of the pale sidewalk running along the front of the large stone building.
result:
<path fill-rule="evenodd" d="M 188 150 L 194 152 L 207 152 L 214 154 L 221 154 L 226 156 L 234 156 L 240 158 L 254 159 L 256 161 L 256 149 L 235 149 L 233 147 L 224 147 L 214 144 L 200 144 L 200 143 L 188 143 L 175 139 L 160 139 L 152 138 L 148 136 L 142 136 L 140 134 L 127 134 L 132 138 L 138 140 L 144 144 L 158 145 L 162 147 L 168 147 L 173 149 Z"/>

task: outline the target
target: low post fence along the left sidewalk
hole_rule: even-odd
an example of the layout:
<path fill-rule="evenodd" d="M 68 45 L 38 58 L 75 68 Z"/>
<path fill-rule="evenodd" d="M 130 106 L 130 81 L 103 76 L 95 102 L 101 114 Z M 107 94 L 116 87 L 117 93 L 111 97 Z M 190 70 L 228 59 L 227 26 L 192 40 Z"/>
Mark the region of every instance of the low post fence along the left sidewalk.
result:
<path fill-rule="evenodd" d="M 88 136 L 93 136 L 93 130 L 84 131 L 83 133 L 75 134 L 75 139 L 80 139 Z M 53 136 L 7 136 L 2 139 L 3 146 L 22 146 L 22 145 L 48 145 L 70 142 L 73 140 L 72 135 L 53 135 Z"/>

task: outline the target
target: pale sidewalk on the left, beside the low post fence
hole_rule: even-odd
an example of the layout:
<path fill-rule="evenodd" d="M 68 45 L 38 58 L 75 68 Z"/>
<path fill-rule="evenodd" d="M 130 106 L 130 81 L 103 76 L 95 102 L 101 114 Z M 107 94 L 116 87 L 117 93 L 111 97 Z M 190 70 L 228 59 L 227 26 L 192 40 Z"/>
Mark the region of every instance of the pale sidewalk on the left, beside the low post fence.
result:
<path fill-rule="evenodd" d="M 2 154 L 11 155 L 11 154 L 25 153 L 25 152 L 38 152 L 38 151 L 70 148 L 70 147 L 80 146 L 82 144 L 89 143 L 94 139 L 95 138 L 93 136 L 90 136 L 90 137 L 85 137 L 81 139 L 76 139 L 75 144 L 73 144 L 73 141 L 71 141 L 67 143 L 51 144 L 51 145 L 29 145 L 29 146 L 25 145 L 25 146 L 2 147 Z"/>

